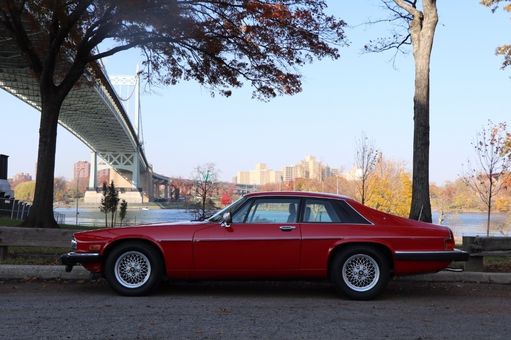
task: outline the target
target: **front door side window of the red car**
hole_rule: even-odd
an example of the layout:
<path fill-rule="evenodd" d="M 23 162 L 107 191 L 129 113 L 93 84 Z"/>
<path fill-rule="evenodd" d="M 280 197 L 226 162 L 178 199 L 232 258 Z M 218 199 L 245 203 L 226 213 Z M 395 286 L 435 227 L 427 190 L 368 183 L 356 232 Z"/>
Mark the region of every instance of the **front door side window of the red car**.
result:
<path fill-rule="evenodd" d="M 243 223 L 296 223 L 299 202 L 296 198 L 255 199 Z"/>

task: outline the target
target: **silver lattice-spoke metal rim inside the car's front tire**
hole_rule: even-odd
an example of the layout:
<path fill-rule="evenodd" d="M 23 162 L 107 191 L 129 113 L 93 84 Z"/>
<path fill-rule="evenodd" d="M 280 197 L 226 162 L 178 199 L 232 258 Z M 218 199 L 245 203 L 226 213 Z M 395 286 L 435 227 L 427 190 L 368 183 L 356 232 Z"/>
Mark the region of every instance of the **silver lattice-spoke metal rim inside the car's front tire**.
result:
<path fill-rule="evenodd" d="M 119 256 L 114 270 L 120 284 L 127 288 L 137 288 L 149 280 L 151 263 L 144 254 L 130 251 Z"/>

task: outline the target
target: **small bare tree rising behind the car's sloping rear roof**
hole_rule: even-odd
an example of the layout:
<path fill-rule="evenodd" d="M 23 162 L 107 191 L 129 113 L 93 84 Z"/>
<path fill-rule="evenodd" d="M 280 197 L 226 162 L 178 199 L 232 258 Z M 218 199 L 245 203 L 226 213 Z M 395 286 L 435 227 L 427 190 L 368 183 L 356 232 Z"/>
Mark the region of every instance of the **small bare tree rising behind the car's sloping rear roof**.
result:
<path fill-rule="evenodd" d="M 362 132 L 360 139 L 355 138 L 355 153 L 353 155 L 354 174 L 353 188 L 360 203 L 365 204 L 372 194 L 370 179 L 376 171 L 379 162 L 379 152 L 373 139 L 367 138 Z"/>

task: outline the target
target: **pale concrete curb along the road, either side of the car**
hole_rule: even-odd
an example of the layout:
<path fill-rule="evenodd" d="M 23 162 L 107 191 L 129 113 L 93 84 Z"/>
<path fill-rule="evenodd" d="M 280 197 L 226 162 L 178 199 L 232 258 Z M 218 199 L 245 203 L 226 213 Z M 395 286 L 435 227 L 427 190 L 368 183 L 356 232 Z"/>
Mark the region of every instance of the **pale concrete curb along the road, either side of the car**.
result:
<path fill-rule="evenodd" d="M 82 266 L 74 266 L 71 273 L 65 272 L 63 265 L 21 265 L 0 264 L 0 279 L 63 279 L 63 280 L 88 280 L 92 279 L 92 273 Z M 477 282 L 477 283 L 502 283 L 511 284 L 511 273 L 476 273 L 476 272 L 438 272 L 435 274 L 400 276 L 394 278 L 397 281 L 454 281 L 454 282 Z"/>

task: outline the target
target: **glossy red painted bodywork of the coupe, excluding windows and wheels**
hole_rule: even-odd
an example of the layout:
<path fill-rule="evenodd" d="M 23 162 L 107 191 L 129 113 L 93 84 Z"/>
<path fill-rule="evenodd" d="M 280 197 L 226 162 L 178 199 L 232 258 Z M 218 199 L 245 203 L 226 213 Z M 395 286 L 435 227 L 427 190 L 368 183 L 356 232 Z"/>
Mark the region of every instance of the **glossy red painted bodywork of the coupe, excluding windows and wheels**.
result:
<path fill-rule="evenodd" d="M 251 197 L 314 197 L 346 201 L 371 224 L 220 223 L 182 221 L 75 234 L 77 253 L 100 245 L 104 258 L 118 242 L 141 240 L 161 252 L 170 278 L 321 278 L 338 247 L 367 244 L 385 250 L 394 274 L 436 272 L 450 261 L 396 261 L 394 252 L 446 251 L 449 229 L 386 214 L 347 197 L 307 192 L 257 192 Z M 302 203 L 303 204 L 303 203 Z M 282 226 L 294 229 L 283 231 Z M 101 272 L 102 263 L 84 267 Z"/>

